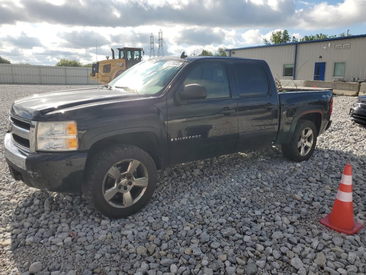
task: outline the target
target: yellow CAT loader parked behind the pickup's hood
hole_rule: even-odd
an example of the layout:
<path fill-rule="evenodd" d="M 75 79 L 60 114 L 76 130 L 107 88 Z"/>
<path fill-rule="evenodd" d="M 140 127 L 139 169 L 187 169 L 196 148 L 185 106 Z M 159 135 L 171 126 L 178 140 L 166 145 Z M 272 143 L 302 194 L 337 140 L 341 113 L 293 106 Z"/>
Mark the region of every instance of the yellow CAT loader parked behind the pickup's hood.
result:
<path fill-rule="evenodd" d="M 138 62 L 141 62 L 145 54 L 142 48 L 117 48 L 118 59 L 115 59 L 114 50 L 112 50 L 112 59 L 106 56 L 106 60 L 93 63 L 89 77 L 98 83 L 108 84 L 117 76 L 122 74 Z"/>

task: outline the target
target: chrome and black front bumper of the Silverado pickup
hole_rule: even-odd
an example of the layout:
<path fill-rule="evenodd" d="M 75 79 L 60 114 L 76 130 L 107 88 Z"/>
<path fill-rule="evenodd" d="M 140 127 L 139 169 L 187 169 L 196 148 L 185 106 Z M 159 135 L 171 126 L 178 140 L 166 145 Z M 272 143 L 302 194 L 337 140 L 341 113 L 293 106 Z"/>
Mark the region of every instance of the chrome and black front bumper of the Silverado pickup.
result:
<path fill-rule="evenodd" d="M 5 134 L 4 151 L 15 180 L 46 191 L 81 191 L 87 153 L 28 153 L 14 144 L 10 133 Z"/>

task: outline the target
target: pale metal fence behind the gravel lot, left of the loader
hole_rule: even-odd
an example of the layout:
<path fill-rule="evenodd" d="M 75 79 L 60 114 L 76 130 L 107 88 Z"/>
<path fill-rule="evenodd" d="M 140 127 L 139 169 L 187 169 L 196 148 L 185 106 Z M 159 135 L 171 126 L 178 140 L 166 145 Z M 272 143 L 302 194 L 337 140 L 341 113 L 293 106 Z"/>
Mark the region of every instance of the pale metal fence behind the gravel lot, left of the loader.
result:
<path fill-rule="evenodd" d="M 97 84 L 89 67 L 0 64 L 0 84 Z"/>

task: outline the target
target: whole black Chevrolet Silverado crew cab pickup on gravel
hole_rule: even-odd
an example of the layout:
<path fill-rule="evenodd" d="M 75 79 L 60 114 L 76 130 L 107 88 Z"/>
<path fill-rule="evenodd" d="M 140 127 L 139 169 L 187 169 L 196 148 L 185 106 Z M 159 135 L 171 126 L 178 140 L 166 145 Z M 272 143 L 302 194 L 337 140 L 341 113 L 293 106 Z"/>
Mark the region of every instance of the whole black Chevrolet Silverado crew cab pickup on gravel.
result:
<path fill-rule="evenodd" d="M 5 157 L 14 179 L 82 192 L 117 218 L 152 197 L 157 169 L 281 144 L 305 161 L 330 126 L 332 93 L 277 93 L 267 63 L 156 58 L 107 87 L 35 94 L 10 107 Z"/>

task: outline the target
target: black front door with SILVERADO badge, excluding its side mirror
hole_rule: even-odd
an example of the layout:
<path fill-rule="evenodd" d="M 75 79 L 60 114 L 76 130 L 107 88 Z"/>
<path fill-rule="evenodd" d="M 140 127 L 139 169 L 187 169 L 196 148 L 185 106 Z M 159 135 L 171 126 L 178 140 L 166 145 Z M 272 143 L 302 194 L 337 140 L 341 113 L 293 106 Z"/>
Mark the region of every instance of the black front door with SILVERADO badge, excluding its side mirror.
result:
<path fill-rule="evenodd" d="M 238 133 L 238 103 L 231 95 L 225 63 L 197 60 L 169 93 L 169 164 L 233 153 Z M 179 102 L 176 92 L 188 84 L 206 87 L 205 99 Z"/>

